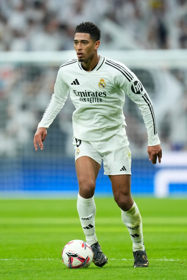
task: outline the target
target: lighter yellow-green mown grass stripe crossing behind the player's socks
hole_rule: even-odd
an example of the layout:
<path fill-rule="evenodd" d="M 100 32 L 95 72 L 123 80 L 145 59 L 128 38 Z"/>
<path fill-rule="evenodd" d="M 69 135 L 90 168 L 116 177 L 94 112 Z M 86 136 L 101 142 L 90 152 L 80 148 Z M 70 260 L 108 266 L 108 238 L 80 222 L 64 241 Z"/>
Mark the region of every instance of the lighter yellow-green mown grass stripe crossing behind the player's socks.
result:
<path fill-rule="evenodd" d="M 187 232 L 187 221 L 185 217 L 178 217 L 175 222 L 172 217 L 143 218 L 143 229 L 146 233 L 159 232 Z M 112 225 L 112 226 L 111 226 Z M 76 232 L 82 232 L 79 218 L 1 218 L 1 233 L 41 233 L 41 232 L 68 232 L 76 227 Z M 97 218 L 97 232 L 124 232 L 126 227 L 122 223 L 121 217 L 118 218 Z"/>

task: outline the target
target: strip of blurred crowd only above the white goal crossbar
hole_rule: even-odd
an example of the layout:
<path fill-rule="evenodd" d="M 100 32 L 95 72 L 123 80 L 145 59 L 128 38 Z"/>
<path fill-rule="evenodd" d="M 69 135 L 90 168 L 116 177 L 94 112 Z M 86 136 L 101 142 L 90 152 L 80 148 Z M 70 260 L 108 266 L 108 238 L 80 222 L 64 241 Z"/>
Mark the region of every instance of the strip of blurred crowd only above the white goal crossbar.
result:
<path fill-rule="evenodd" d="M 187 46 L 186 0 L 1 0 L 0 50 L 72 49 L 82 21 L 101 27 L 104 49 Z"/>

